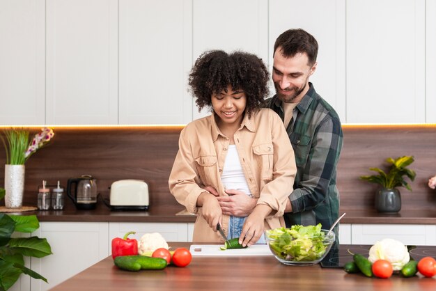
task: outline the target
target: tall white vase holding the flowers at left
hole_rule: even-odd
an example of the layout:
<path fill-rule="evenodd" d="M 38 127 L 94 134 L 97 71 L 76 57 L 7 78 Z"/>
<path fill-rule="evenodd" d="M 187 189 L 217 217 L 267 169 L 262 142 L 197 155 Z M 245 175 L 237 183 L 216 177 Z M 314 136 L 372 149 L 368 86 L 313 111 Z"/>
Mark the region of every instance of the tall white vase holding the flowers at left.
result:
<path fill-rule="evenodd" d="M 20 208 L 23 205 L 24 165 L 5 165 L 5 206 Z"/>

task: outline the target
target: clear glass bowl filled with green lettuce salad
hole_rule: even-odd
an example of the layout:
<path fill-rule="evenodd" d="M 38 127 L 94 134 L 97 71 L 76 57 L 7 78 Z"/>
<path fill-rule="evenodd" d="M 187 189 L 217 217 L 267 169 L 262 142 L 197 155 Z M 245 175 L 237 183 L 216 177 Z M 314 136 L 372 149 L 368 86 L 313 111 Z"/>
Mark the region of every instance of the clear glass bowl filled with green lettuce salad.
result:
<path fill-rule="evenodd" d="M 284 265 L 315 265 L 329 253 L 335 234 L 316 226 L 274 228 L 265 230 L 265 239 L 270 250 Z"/>

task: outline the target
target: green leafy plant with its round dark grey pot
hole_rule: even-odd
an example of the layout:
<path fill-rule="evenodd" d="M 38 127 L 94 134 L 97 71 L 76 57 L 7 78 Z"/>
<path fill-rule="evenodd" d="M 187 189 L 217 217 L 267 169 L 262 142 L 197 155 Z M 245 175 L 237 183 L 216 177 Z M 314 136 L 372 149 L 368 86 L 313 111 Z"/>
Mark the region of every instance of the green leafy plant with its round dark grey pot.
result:
<path fill-rule="evenodd" d="M 391 164 L 389 172 L 385 173 L 380 168 L 369 168 L 375 171 L 377 175 L 364 175 L 360 178 L 368 182 L 380 184 L 382 187 L 377 194 L 375 194 L 375 208 L 379 212 L 398 212 L 401 210 L 401 196 L 397 187 L 405 187 L 407 190 L 412 191 L 412 187 L 405 180 L 405 177 L 411 181 L 415 179 L 416 173 L 407 168 L 414 162 L 413 156 L 404 156 L 392 159 L 386 159 L 386 162 Z"/>

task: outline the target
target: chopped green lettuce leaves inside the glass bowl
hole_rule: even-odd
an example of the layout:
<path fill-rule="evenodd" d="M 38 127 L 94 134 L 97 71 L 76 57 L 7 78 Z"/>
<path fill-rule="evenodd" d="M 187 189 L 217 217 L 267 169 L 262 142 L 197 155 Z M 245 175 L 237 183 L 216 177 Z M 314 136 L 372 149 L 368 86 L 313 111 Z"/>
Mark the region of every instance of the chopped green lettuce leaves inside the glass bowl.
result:
<path fill-rule="evenodd" d="M 272 251 L 283 260 L 313 261 L 324 255 L 327 249 L 321 223 L 267 230 L 267 238 Z"/>

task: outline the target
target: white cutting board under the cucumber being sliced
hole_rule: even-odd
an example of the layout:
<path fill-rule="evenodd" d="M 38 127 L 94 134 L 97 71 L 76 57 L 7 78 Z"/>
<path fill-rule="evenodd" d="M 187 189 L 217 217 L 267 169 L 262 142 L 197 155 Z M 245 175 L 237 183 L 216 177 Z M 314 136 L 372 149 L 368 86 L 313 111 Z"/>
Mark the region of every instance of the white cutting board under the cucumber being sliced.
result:
<path fill-rule="evenodd" d="M 270 247 L 266 244 L 253 244 L 245 249 L 226 249 L 222 251 L 219 249 L 224 244 L 192 244 L 189 251 L 192 255 L 220 255 L 233 256 L 233 255 L 272 255 Z"/>

